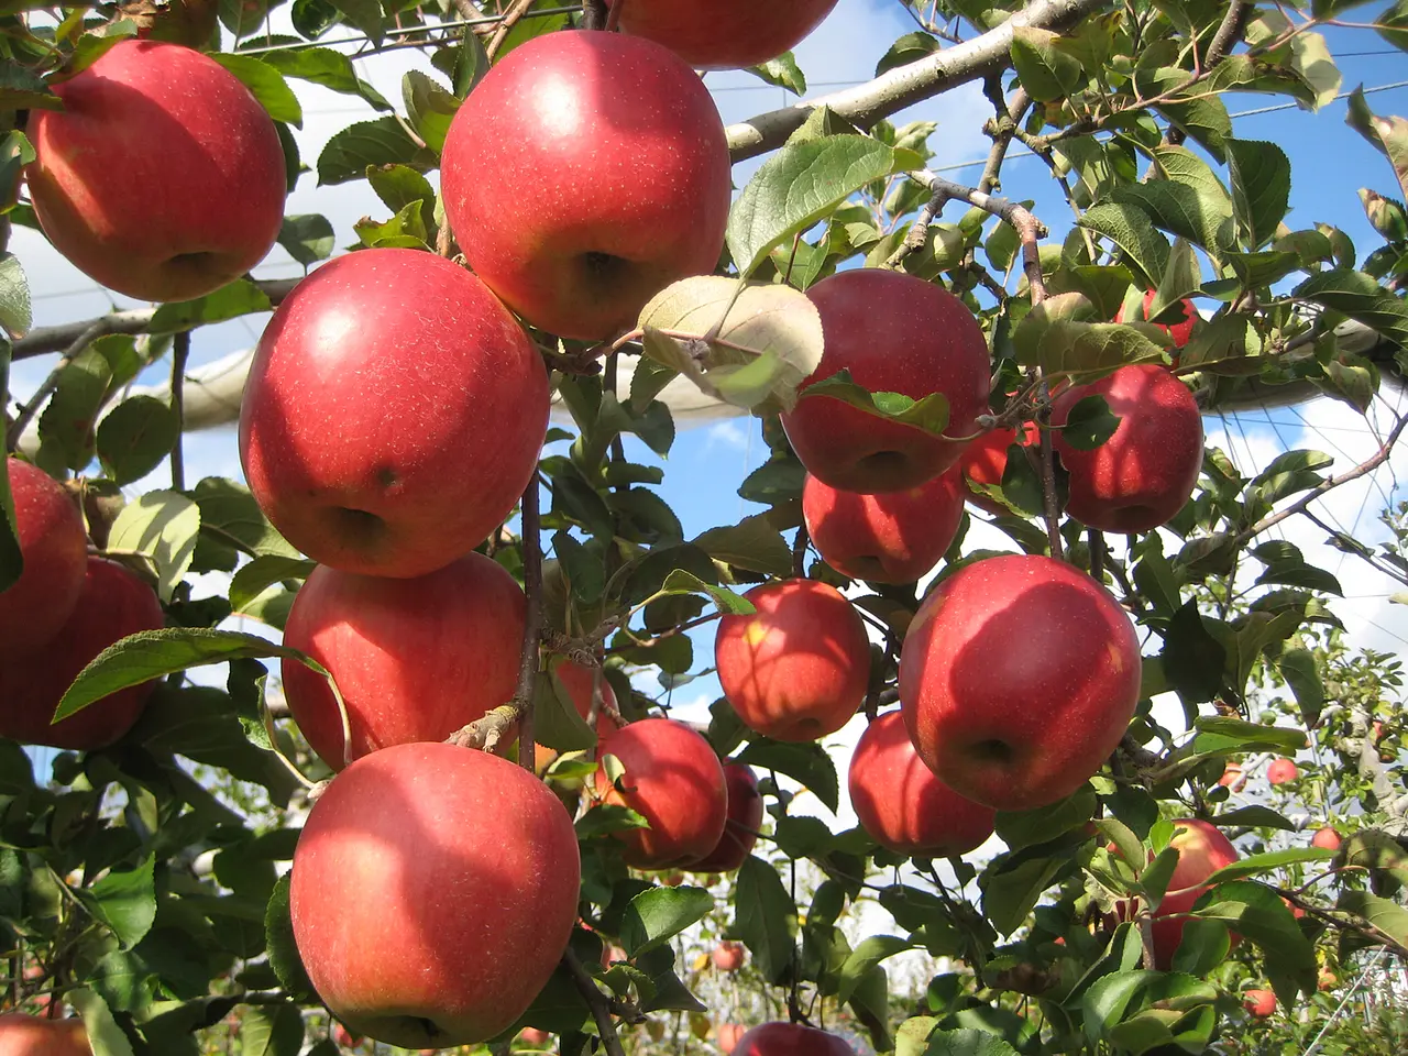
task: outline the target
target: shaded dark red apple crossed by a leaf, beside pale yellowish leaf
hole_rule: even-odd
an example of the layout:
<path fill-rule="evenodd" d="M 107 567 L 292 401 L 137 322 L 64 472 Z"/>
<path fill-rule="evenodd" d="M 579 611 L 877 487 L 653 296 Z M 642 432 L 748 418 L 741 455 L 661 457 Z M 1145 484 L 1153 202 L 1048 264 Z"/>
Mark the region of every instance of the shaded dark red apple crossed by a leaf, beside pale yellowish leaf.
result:
<path fill-rule="evenodd" d="M 934 283 L 880 268 L 841 272 L 807 290 L 821 313 L 825 351 L 801 386 L 849 370 L 873 393 L 919 400 L 943 393 L 946 436 L 977 432 L 987 414 L 987 339 L 963 301 Z M 781 415 L 807 470 L 843 491 L 903 491 L 932 480 L 966 441 L 934 436 L 831 397 L 801 398 Z"/>

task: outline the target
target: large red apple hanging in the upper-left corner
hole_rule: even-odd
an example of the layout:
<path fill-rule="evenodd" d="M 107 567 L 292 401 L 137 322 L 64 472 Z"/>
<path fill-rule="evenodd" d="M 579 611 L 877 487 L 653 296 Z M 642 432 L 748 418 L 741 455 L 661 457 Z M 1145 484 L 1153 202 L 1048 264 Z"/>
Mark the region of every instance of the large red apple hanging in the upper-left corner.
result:
<path fill-rule="evenodd" d="M 54 248 L 111 290 L 184 301 L 234 282 L 279 237 L 283 146 L 214 59 L 121 41 L 31 110 L 30 199 Z"/>

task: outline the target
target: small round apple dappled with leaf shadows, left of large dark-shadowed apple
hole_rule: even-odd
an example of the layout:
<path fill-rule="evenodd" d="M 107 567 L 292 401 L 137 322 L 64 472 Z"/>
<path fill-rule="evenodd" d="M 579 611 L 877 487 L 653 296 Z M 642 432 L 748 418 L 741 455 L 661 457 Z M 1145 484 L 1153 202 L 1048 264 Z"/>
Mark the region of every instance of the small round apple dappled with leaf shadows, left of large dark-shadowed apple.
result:
<path fill-rule="evenodd" d="M 790 579 L 753 587 L 752 615 L 718 621 L 714 663 L 743 724 L 777 741 L 815 741 L 856 714 L 870 639 L 835 587 Z"/>

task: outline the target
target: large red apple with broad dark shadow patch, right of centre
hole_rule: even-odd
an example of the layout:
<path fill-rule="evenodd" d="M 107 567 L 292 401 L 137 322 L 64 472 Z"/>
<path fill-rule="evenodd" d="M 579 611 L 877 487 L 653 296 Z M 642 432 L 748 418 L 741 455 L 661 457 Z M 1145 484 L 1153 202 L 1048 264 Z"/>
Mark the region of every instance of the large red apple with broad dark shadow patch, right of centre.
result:
<path fill-rule="evenodd" d="M 997 810 L 1064 798 L 1100 770 L 1139 701 L 1139 639 L 1086 573 L 1039 555 L 988 558 L 943 580 L 900 650 L 919 758 Z"/>

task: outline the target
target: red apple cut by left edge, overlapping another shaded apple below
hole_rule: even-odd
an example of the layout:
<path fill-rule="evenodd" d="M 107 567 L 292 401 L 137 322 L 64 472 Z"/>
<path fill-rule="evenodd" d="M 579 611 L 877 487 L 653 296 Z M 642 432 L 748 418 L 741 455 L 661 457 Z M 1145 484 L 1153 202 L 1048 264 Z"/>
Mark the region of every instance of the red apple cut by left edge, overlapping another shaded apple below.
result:
<path fill-rule="evenodd" d="M 0 590 L 0 658 L 23 660 L 73 615 L 87 572 L 87 534 L 54 477 L 20 459 L 6 459 L 6 467 L 24 570 Z"/>

